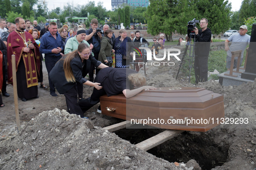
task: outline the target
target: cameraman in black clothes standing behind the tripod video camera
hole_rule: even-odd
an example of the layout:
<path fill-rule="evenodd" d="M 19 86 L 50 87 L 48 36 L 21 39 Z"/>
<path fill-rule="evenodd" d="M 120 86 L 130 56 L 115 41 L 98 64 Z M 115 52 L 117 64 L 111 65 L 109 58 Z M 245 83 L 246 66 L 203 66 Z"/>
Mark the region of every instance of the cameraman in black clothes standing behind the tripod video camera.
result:
<path fill-rule="evenodd" d="M 208 76 L 208 55 L 211 45 L 211 30 L 207 28 L 208 20 L 202 18 L 200 21 L 201 29 L 194 27 L 195 33 L 195 57 L 194 75 L 195 82 L 207 82 Z"/>

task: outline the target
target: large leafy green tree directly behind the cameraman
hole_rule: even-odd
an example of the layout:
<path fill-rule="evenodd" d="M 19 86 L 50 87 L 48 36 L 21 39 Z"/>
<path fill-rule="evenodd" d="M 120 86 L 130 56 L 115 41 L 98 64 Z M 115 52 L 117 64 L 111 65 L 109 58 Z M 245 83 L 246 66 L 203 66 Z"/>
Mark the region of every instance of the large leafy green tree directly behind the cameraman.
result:
<path fill-rule="evenodd" d="M 186 33 L 187 22 L 207 18 L 213 34 L 229 28 L 231 5 L 224 0 L 149 0 L 146 12 L 148 32 L 152 35 L 165 33 L 172 41 L 172 32 Z M 199 26 L 199 24 L 198 24 Z M 169 38 L 168 38 L 169 36 Z"/>

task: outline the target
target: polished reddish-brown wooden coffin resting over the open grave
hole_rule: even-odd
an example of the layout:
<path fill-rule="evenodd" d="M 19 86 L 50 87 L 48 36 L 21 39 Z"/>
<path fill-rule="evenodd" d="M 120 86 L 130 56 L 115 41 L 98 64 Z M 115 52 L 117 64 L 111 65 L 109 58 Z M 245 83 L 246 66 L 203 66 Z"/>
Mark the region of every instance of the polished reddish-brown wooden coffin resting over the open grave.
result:
<path fill-rule="evenodd" d="M 126 99 L 100 97 L 102 114 L 162 129 L 206 132 L 224 118 L 223 95 L 205 88 L 157 88 Z"/>

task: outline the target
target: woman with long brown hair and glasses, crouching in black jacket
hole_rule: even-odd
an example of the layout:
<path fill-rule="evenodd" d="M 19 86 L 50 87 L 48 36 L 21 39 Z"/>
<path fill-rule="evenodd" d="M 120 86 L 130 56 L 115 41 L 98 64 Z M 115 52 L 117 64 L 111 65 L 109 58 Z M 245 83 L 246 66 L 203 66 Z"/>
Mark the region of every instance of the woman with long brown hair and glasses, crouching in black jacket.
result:
<path fill-rule="evenodd" d="M 76 83 L 93 86 L 96 90 L 102 88 L 100 83 L 96 81 L 90 82 L 82 76 L 82 69 L 89 71 L 91 63 L 100 69 L 107 67 L 92 57 L 91 50 L 87 44 L 81 43 L 78 45 L 77 50 L 63 56 L 50 72 L 50 78 L 58 92 L 65 95 L 67 111 L 70 114 L 78 114 L 84 117 L 84 112 L 82 112 L 77 103 Z"/>

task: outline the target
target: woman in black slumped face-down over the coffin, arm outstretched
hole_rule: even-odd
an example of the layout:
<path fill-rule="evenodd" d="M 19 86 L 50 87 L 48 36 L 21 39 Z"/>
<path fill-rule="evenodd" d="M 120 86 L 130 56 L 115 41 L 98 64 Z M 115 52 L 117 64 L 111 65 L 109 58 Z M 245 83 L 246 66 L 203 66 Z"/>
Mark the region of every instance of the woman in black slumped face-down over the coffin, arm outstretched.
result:
<path fill-rule="evenodd" d="M 126 98 L 131 98 L 143 90 L 149 91 L 156 89 L 152 86 L 144 86 L 146 85 L 146 77 L 134 69 L 128 68 L 107 67 L 101 69 L 94 81 L 99 82 L 103 88 L 100 90 L 94 88 L 90 98 L 79 102 L 83 112 L 86 112 L 95 104 L 99 103 L 100 96 L 104 94 L 107 94 L 109 97 L 123 93 Z M 101 113 L 100 106 L 97 111 Z"/>

